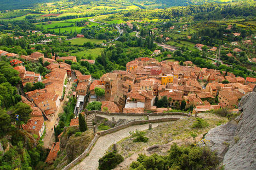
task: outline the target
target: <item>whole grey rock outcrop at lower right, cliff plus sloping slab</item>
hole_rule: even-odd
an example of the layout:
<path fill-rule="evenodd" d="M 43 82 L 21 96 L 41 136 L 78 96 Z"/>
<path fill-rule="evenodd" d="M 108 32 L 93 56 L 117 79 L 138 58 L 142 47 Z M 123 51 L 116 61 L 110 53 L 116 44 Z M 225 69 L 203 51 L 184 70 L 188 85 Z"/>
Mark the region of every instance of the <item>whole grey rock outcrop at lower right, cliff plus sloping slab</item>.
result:
<path fill-rule="evenodd" d="M 235 121 L 209 131 L 199 145 L 207 144 L 216 151 L 227 170 L 256 167 L 256 92 L 241 99 L 242 114 Z"/>

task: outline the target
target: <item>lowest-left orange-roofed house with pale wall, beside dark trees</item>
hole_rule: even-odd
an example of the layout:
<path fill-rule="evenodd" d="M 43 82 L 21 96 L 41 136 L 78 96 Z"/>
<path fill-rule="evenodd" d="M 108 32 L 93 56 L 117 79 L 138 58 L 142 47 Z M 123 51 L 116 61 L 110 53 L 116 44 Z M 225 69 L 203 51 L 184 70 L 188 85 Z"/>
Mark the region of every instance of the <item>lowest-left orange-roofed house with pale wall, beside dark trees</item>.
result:
<path fill-rule="evenodd" d="M 22 128 L 29 133 L 36 134 L 37 137 L 41 137 L 45 128 L 43 116 L 32 117 L 26 125 L 22 125 Z"/>

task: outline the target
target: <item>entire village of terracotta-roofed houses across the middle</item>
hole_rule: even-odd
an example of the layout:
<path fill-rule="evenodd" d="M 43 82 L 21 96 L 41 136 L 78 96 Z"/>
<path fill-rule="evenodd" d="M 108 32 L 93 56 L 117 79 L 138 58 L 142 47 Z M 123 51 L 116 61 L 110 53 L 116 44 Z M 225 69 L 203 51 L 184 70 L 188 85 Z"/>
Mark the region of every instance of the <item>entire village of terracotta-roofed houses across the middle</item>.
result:
<path fill-rule="evenodd" d="M 160 53 L 160 50 L 155 50 L 153 56 Z M 22 65 L 24 62 L 17 59 L 19 55 L 2 50 L 0 55 L 9 57 L 10 65 L 19 72 L 23 87 L 27 83 L 44 84 L 43 89 L 21 92 L 22 102 L 32 109 L 31 119 L 22 128 L 38 137 L 45 133 L 44 145 L 51 149 L 46 160 L 48 163 L 56 159 L 59 151 L 59 142 L 53 140 L 53 128 L 58 125 L 58 116 L 71 97 L 77 102 L 70 126 L 76 126 L 78 114 L 93 102 L 100 102 L 100 110 L 109 113 L 197 114 L 220 108 L 238 112 L 238 102 L 253 91 L 256 84 L 256 78 L 244 79 L 230 72 L 200 68 L 191 61 L 183 62 L 181 66 L 179 62 L 158 62 L 155 58 L 140 57 L 128 62 L 126 71 L 112 71 L 100 79 L 92 79 L 92 75 L 71 70 L 71 66 L 65 63 L 65 60 L 77 62 L 75 56 L 46 58 L 40 52 L 20 56 L 33 63 L 49 62 L 46 67 L 51 72 L 42 76 L 26 71 Z M 94 60 L 83 61 L 89 65 L 95 63 Z M 103 89 L 103 93 L 97 96 L 96 89 Z"/>

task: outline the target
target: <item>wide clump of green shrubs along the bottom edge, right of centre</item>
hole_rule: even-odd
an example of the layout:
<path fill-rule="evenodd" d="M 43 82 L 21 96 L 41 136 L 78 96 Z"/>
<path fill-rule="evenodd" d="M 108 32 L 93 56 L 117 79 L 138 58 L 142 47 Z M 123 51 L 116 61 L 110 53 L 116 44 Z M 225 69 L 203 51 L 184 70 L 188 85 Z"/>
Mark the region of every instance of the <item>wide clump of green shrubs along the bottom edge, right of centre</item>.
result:
<path fill-rule="evenodd" d="M 215 153 L 209 148 L 199 146 L 185 147 L 174 143 L 167 156 L 153 154 L 151 156 L 139 155 L 136 162 L 130 167 L 140 169 L 215 169 L 219 164 Z"/>

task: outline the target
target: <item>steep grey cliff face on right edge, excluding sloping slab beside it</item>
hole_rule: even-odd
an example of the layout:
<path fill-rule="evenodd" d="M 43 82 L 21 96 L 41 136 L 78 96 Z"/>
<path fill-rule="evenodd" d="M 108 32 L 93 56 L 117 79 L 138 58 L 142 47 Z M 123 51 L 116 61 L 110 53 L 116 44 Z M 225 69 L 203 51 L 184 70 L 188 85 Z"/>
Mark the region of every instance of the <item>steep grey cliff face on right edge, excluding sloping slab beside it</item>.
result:
<path fill-rule="evenodd" d="M 255 169 L 256 167 L 256 92 L 244 96 L 239 109 L 242 119 L 237 124 L 237 143 L 224 156 L 225 169 Z"/>

